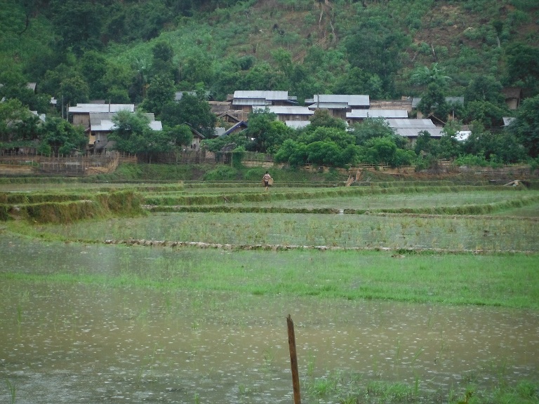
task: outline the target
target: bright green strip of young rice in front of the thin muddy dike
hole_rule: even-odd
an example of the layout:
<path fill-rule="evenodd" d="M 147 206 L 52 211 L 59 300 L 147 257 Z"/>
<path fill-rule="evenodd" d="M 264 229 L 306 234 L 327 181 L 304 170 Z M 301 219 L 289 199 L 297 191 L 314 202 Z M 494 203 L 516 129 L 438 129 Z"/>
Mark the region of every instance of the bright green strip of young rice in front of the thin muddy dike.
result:
<path fill-rule="evenodd" d="M 76 239 L 76 232 L 71 237 Z M 49 243 L 54 245 L 52 241 Z M 145 248 L 140 246 L 109 245 L 108 248 L 124 249 L 122 260 L 126 268 L 139 268 L 136 262 L 145 254 Z M 135 272 L 2 273 L 0 278 L 112 288 L 237 292 L 267 297 L 382 299 L 539 309 L 539 292 L 534 288 L 538 281 L 536 255 L 401 253 L 404 254 L 238 250 L 229 254 L 214 248 L 176 247 L 162 250 L 161 257 L 153 261 L 151 268 L 139 268 Z M 268 264 L 270 262 L 272 264 Z"/>

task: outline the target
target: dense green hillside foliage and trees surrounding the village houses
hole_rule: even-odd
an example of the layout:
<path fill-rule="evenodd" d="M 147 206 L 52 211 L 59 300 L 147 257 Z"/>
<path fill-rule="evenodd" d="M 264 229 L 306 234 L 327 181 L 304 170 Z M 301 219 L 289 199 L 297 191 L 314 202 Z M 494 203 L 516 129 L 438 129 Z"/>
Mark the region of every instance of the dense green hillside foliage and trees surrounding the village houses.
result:
<path fill-rule="evenodd" d="M 295 164 L 536 158 L 538 24 L 533 0 L 2 0 L 0 142 L 80 149 L 75 135 L 44 130 L 64 133 L 53 118 L 68 105 L 101 99 L 153 112 L 166 130 L 145 144 L 171 149 L 189 138 L 182 125 L 211 133 L 208 96 L 288 90 L 300 103 L 317 93 L 420 96 L 422 114 L 454 116 L 472 135 L 457 142 L 456 127 L 441 140 L 425 134 L 412 156 L 380 123 L 347 132 L 313 122 L 296 131 L 254 114 L 246 137 L 230 142 Z M 517 114 L 502 95 L 510 86 L 528 99 Z M 448 96 L 464 96 L 465 104 Z M 46 113 L 46 123 L 28 109 Z M 503 116 L 516 117 L 508 130 L 500 129 Z"/>

